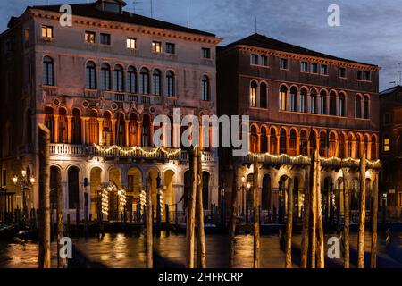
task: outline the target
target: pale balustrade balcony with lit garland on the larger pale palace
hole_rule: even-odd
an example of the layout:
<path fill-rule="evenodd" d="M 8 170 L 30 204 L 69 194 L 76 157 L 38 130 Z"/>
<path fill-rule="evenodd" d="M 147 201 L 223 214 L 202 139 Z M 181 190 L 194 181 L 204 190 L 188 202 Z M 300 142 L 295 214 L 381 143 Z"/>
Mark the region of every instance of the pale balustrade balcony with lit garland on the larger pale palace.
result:
<path fill-rule="evenodd" d="M 141 158 L 159 160 L 178 160 L 188 161 L 188 153 L 178 148 L 158 148 L 158 147 L 120 147 L 120 146 L 86 146 L 71 144 L 51 144 L 50 156 L 102 156 L 102 157 L 121 157 L 121 158 Z M 214 162 L 214 154 L 209 151 L 202 151 L 204 162 Z"/>

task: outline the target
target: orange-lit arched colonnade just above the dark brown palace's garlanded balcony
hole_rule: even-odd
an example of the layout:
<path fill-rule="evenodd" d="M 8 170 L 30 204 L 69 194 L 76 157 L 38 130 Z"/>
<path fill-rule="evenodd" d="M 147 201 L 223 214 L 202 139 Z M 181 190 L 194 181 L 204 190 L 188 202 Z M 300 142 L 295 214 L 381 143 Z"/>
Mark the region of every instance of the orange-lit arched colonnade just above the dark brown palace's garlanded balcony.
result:
<path fill-rule="evenodd" d="M 378 158 L 379 141 L 375 133 L 259 123 L 252 123 L 249 132 L 249 151 L 253 153 L 311 156 L 318 147 L 322 157 Z"/>

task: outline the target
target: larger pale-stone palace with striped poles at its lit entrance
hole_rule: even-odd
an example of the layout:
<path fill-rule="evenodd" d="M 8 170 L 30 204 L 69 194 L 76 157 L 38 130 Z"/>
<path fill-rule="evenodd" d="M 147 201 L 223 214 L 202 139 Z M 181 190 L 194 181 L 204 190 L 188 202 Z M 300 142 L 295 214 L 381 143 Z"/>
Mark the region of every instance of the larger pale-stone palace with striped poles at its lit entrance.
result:
<path fill-rule="evenodd" d="M 60 5 L 28 7 L 1 35 L 2 187 L 15 192 L 14 207 L 21 209 L 24 198 L 13 177 L 25 170 L 37 179 L 26 189 L 26 204 L 38 208 L 37 126 L 44 123 L 51 131 L 52 204 L 60 172 L 64 214 L 71 220 L 77 208 L 82 218 L 85 192 L 95 219 L 105 188 L 114 193 L 110 219 L 121 210 L 119 200 L 135 211 L 149 176 L 154 204 L 160 189 L 163 206 L 183 210 L 188 154 L 154 147 L 155 130 L 166 126 L 153 126 L 153 120 L 172 118 L 173 108 L 181 116 L 216 114 L 215 47 L 221 39 L 124 12 L 124 5 L 71 4 L 71 27 L 61 25 Z M 218 200 L 217 150 L 204 148 L 202 156 L 209 210 Z"/>

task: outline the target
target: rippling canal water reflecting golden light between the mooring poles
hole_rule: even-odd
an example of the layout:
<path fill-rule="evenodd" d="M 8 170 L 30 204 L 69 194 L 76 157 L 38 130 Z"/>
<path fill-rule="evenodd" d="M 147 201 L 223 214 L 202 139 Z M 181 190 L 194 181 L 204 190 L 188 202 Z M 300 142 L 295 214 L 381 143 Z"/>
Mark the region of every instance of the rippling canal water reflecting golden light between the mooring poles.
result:
<path fill-rule="evenodd" d="M 402 246 L 402 234 L 395 236 Z M 294 237 L 294 245 L 299 245 L 300 236 Z M 351 247 L 356 248 L 357 235 L 351 234 Z M 106 267 L 143 268 L 146 265 L 144 235 L 127 235 L 123 233 L 105 233 L 103 239 L 88 238 L 73 240 L 74 247 L 85 257 L 99 262 Z M 205 236 L 207 267 L 227 267 L 229 239 L 226 235 L 207 234 Z M 162 231 L 160 238 L 154 238 L 155 254 L 176 265 L 185 265 L 186 237 L 183 234 L 167 236 Z M 252 267 L 253 236 L 239 235 L 235 245 L 236 267 Z M 385 239 L 379 238 L 379 253 L 386 255 Z M 370 251 L 370 236 L 366 236 L 365 251 Z M 52 243 L 52 267 L 56 266 L 56 245 Z M 263 268 L 283 268 L 285 255 L 280 249 L 278 235 L 261 237 L 261 262 Z M 0 241 L 1 268 L 36 268 L 38 267 L 38 243 L 29 240 Z M 293 265 L 297 268 L 297 265 Z"/>

